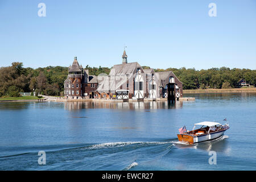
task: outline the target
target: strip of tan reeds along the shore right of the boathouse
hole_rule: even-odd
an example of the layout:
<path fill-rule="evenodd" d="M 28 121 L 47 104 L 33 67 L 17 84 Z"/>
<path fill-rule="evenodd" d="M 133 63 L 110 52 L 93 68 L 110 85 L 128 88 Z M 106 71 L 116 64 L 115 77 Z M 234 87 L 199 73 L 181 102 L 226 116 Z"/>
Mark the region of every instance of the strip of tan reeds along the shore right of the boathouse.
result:
<path fill-rule="evenodd" d="M 184 94 L 187 94 L 187 93 L 241 93 L 241 92 L 256 93 L 256 88 L 183 90 Z"/>

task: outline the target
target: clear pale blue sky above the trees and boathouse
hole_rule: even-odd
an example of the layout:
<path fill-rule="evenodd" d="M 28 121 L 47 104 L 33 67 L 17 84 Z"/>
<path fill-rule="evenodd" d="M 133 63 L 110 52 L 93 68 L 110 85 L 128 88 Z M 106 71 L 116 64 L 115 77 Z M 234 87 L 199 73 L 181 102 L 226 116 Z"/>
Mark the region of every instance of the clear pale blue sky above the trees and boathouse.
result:
<path fill-rule="evenodd" d="M 0 67 L 112 67 L 124 44 L 151 68 L 256 69 L 256 1 L 0 0 Z"/>

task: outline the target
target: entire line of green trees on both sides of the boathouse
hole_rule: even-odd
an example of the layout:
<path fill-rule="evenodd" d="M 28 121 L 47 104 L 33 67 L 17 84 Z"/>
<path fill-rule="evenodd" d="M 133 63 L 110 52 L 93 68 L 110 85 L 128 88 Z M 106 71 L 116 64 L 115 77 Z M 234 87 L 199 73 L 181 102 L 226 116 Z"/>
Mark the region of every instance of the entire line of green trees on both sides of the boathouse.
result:
<path fill-rule="evenodd" d="M 150 67 L 143 67 L 144 69 Z M 100 75 L 110 72 L 107 67 L 89 67 L 89 75 Z M 256 70 L 230 69 L 226 67 L 201 69 L 168 68 L 154 69 L 155 72 L 172 71 L 183 82 L 183 89 L 237 88 L 244 78 L 250 85 L 256 84 Z M 61 96 L 64 81 L 68 76 L 68 67 L 24 68 L 22 63 L 14 62 L 10 67 L 0 68 L 0 97 L 19 96 L 20 92 L 33 92 L 49 96 Z"/>

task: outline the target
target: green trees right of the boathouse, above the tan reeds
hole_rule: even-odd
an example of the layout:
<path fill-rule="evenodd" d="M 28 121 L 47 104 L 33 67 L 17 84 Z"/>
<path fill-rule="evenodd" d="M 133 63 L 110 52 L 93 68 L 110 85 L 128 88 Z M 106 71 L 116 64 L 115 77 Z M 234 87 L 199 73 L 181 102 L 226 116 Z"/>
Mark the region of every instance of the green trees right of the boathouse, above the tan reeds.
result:
<path fill-rule="evenodd" d="M 195 68 L 168 68 L 166 70 L 155 69 L 159 71 L 172 71 L 183 82 L 183 89 L 228 89 L 240 87 L 239 81 L 243 78 L 252 86 L 256 84 L 256 70 L 239 69 L 239 68 L 210 68 L 201 69 Z"/>

